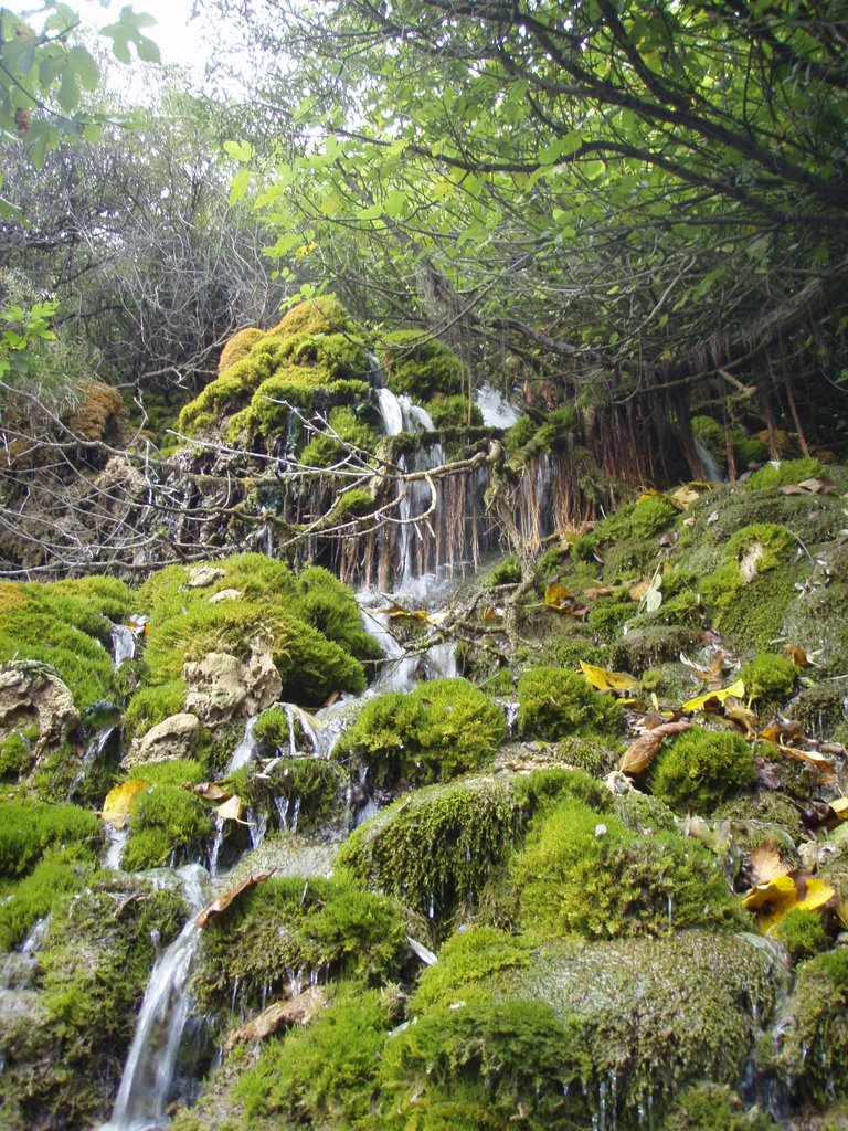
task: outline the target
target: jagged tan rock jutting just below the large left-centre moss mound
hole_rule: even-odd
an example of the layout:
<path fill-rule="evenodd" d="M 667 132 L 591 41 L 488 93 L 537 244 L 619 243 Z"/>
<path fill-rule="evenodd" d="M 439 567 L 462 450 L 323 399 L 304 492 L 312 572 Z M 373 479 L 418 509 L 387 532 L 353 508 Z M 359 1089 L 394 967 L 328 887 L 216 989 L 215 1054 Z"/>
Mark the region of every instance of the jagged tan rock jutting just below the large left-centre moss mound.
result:
<path fill-rule="evenodd" d="M 275 703 L 283 690 L 270 641 L 261 637 L 251 641 L 248 661 L 210 651 L 201 661 L 185 664 L 183 674 L 187 710 L 211 727 L 259 714 Z"/>

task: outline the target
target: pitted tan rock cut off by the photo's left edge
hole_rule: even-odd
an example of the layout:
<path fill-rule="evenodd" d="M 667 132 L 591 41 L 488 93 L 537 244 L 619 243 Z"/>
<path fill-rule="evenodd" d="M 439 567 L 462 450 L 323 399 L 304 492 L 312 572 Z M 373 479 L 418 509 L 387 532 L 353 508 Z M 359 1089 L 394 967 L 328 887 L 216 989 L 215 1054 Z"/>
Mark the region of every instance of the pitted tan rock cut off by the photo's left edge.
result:
<path fill-rule="evenodd" d="M 73 697 L 46 665 L 19 659 L 0 668 L 0 740 L 12 731 L 38 724 L 36 756 L 58 745 L 79 725 Z"/>

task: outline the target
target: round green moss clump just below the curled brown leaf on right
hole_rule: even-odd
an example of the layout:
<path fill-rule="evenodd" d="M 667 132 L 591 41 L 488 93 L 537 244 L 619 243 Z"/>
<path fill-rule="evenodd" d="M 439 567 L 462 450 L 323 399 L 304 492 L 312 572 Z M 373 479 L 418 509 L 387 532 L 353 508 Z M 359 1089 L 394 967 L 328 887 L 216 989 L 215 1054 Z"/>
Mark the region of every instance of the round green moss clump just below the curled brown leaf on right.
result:
<path fill-rule="evenodd" d="M 719 802 L 749 789 L 754 778 L 753 751 L 744 739 L 693 726 L 663 744 L 649 783 L 676 812 L 709 815 Z"/>

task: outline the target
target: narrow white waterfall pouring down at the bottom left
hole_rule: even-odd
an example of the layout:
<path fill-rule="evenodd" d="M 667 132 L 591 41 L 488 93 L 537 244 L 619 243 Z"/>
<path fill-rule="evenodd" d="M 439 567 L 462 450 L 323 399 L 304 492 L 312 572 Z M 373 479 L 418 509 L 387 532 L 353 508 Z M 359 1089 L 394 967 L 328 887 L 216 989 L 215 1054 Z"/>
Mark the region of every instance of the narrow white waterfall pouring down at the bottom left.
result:
<path fill-rule="evenodd" d="M 189 977 L 200 942 L 194 918 L 206 901 L 207 879 L 199 864 L 180 869 L 179 874 L 191 916 L 153 968 L 112 1119 L 99 1131 L 156 1131 L 167 1122 L 165 1104 L 191 1010 Z"/>

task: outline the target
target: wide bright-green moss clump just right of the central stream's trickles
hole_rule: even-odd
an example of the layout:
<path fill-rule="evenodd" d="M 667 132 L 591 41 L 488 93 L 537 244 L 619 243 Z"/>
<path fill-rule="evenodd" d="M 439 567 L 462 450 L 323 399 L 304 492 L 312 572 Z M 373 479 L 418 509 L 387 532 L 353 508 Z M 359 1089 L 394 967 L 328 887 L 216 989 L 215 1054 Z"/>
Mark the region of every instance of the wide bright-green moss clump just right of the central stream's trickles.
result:
<path fill-rule="evenodd" d="M 447 782 L 479 769 L 507 736 L 503 711 L 467 680 L 432 680 L 365 703 L 334 757 L 378 785 Z"/>

